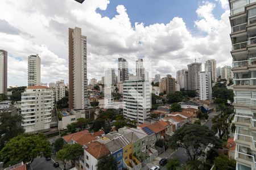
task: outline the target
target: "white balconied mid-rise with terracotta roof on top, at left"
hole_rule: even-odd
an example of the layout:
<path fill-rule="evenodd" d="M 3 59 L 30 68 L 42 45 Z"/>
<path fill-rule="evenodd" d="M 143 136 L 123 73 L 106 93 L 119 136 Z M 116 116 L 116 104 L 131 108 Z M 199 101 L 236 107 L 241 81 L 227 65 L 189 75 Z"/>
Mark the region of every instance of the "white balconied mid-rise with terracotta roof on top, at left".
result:
<path fill-rule="evenodd" d="M 26 132 L 46 131 L 50 128 L 53 109 L 52 90 L 44 86 L 30 86 L 22 93 L 22 126 Z"/>

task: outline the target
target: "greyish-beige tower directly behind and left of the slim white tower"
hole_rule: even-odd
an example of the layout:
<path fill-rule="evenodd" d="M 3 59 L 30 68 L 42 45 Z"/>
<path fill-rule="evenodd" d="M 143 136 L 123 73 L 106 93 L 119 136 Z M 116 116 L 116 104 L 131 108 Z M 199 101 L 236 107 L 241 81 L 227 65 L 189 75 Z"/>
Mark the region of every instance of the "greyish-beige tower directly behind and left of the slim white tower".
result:
<path fill-rule="evenodd" d="M 188 90 L 199 90 L 199 72 L 202 63 L 194 62 L 188 65 Z"/>

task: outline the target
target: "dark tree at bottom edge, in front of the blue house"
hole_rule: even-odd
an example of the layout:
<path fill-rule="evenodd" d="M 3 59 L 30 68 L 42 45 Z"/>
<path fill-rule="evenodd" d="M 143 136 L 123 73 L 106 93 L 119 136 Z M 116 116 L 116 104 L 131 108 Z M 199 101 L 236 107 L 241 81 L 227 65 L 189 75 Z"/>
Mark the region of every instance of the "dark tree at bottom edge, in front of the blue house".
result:
<path fill-rule="evenodd" d="M 103 156 L 97 163 L 98 170 L 117 170 L 117 162 L 112 155 Z"/>

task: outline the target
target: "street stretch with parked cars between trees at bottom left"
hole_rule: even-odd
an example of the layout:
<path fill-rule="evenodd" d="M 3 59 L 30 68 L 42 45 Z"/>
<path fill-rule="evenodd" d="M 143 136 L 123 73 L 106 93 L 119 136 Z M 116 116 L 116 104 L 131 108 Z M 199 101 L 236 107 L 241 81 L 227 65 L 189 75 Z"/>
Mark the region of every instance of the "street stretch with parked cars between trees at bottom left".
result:
<path fill-rule="evenodd" d="M 53 167 L 52 160 L 46 160 L 45 158 L 35 158 L 30 166 L 30 170 L 60 170 L 60 168 Z"/>

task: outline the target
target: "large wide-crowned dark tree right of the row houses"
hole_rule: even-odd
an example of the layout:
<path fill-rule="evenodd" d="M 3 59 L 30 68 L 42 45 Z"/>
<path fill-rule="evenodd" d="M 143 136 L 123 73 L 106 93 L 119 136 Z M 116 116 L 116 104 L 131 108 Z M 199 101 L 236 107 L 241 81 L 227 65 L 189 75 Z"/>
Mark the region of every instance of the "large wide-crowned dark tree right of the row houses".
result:
<path fill-rule="evenodd" d="M 220 141 L 218 141 L 212 130 L 209 130 L 207 126 L 196 124 L 183 126 L 176 130 L 169 140 L 171 148 L 185 148 L 191 160 L 196 159 L 196 153 L 202 145 L 207 146 L 209 143 L 220 145 Z"/>

